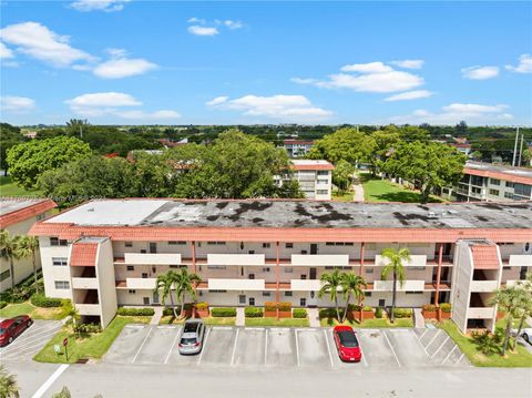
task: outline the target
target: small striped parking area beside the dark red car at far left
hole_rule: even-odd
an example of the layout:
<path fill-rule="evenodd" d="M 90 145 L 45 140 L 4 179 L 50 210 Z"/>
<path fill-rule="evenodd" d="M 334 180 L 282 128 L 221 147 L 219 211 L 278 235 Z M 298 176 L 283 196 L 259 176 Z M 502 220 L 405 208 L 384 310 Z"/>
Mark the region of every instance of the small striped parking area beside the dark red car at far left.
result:
<path fill-rule="evenodd" d="M 0 348 L 0 359 L 31 360 L 33 356 L 55 335 L 63 325 L 59 320 L 34 319 L 9 346 Z"/>

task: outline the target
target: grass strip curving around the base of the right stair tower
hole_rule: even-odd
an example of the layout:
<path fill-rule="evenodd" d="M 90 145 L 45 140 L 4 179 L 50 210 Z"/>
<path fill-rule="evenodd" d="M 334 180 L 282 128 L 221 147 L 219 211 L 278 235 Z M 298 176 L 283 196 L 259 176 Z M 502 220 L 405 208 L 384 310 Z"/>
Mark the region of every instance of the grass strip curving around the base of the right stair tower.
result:
<path fill-rule="evenodd" d="M 508 368 L 532 367 L 532 354 L 519 344 L 516 350 L 508 350 L 505 357 L 502 357 L 499 354 L 484 355 L 478 349 L 474 340 L 468 335 L 463 335 L 452 320 L 446 320 L 438 326 L 451 336 L 454 343 L 474 366 Z"/>

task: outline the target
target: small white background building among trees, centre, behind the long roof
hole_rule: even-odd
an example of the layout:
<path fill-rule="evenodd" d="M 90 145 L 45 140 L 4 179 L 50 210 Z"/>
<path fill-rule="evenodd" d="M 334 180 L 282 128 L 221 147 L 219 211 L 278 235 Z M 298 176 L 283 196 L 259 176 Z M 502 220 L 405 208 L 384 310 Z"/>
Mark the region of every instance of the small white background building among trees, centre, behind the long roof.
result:
<path fill-rule="evenodd" d="M 317 201 L 330 201 L 332 195 L 332 171 L 335 166 L 327 161 L 293 160 L 294 177 L 299 182 L 305 197 Z"/>

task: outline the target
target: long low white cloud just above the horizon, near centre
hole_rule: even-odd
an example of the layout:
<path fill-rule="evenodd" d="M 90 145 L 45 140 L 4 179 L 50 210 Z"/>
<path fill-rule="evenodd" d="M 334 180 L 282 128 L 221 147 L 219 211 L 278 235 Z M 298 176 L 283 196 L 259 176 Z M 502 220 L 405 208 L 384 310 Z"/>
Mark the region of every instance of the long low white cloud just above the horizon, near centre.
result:
<path fill-rule="evenodd" d="M 332 112 L 313 105 L 303 95 L 245 95 L 235 100 L 229 100 L 227 96 L 217 96 L 208 101 L 207 105 L 242 111 L 244 115 L 248 116 L 265 116 L 285 122 L 315 122 L 332 115 Z"/>

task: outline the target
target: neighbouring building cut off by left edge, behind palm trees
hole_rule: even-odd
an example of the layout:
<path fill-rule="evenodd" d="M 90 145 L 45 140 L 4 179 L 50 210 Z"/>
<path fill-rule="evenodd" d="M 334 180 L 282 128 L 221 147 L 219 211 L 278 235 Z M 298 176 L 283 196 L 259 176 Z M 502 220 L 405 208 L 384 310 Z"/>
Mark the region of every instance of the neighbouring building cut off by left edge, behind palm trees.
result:
<path fill-rule="evenodd" d="M 0 229 L 6 229 L 11 236 L 25 235 L 38 221 L 51 215 L 57 204 L 50 200 L 1 198 Z M 40 258 L 37 258 L 41 267 Z M 14 259 L 14 283 L 18 284 L 33 273 L 32 258 Z M 9 261 L 0 258 L 0 292 L 11 288 L 11 271 Z"/>

